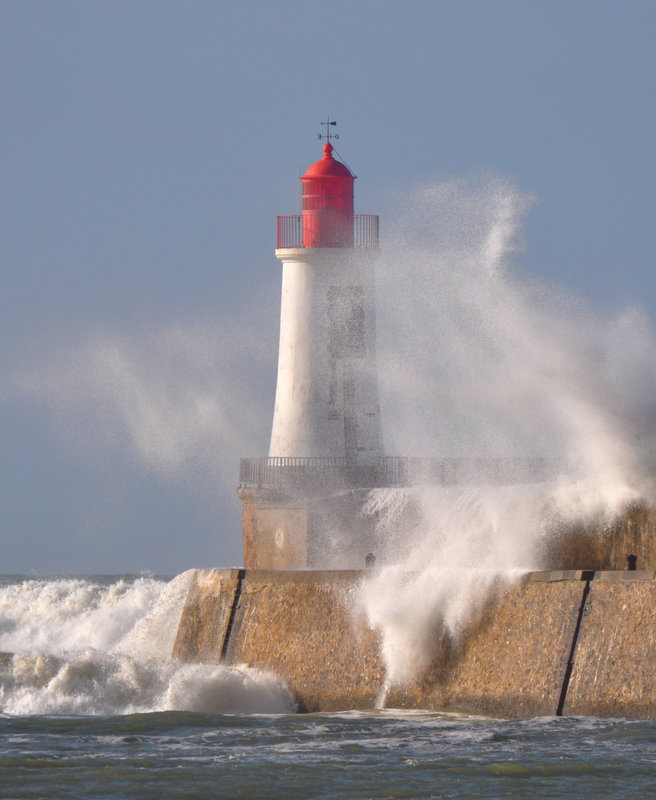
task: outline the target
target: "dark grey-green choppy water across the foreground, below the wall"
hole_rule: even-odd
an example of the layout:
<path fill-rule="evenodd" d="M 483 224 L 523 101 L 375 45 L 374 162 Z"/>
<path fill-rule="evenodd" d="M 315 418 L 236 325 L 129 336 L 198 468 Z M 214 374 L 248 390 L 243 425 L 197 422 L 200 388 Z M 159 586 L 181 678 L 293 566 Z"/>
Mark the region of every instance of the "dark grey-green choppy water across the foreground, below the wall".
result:
<path fill-rule="evenodd" d="M 645 722 L 395 711 L 0 722 L 3 798 L 656 797 Z"/>

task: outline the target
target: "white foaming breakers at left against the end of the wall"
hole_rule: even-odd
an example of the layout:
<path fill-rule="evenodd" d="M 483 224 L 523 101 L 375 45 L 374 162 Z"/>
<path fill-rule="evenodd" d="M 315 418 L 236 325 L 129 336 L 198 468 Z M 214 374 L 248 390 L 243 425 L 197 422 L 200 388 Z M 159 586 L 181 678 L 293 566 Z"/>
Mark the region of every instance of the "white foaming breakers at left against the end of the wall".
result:
<path fill-rule="evenodd" d="M 2 713 L 293 711 L 291 695 L 273 675 L 170 658 L 191 574 L 2 586 Z"/>

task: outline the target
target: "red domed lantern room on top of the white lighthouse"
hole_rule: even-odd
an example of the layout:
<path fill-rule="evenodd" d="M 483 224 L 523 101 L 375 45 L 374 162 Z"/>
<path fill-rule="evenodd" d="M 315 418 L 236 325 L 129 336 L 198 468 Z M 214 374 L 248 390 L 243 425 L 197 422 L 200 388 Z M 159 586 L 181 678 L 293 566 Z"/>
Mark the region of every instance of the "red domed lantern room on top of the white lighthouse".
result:
<path fill-rule="evenodd" d="M 333 158 L 327 142 L 324 157 L 301 178 L 303 247 L 353 247 L 353 181 L 348 167 Z"/>

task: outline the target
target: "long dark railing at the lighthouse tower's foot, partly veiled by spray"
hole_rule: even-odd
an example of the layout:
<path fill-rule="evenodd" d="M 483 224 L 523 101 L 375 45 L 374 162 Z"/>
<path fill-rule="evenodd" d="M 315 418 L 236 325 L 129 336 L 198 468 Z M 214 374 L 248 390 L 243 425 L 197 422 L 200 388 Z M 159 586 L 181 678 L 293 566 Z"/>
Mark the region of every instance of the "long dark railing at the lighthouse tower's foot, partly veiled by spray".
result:
<path fill-rule="evenodd" d="M 240 488 L 348 489 L 404 486 L 539 483 L 565 469 L 558 458 L 405 458 L 385 456 L 372 464 L 345 458 L 242 458 Z"/>

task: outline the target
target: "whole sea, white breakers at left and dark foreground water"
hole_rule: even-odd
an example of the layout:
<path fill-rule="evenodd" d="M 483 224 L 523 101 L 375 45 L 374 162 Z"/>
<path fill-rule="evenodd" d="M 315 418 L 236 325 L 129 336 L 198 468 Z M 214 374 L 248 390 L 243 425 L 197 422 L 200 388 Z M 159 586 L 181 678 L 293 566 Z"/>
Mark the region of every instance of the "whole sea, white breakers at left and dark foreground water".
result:
<path fill-rule="evenodd" d="M 299 714 L 170 657 L 191 573 L 0 578 L 0 798 L 656 798 L 656 723 Z"/>

